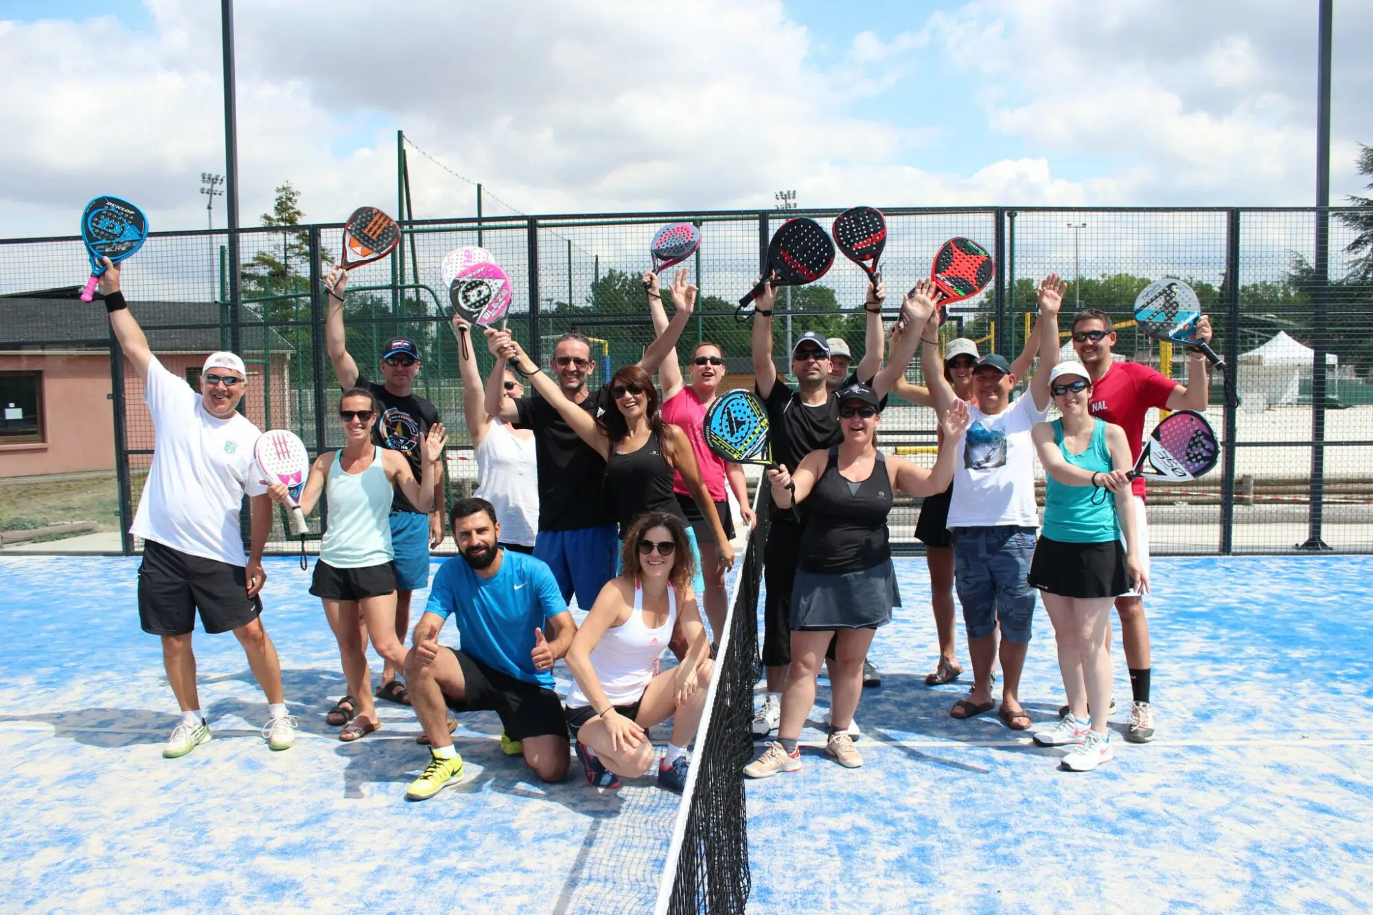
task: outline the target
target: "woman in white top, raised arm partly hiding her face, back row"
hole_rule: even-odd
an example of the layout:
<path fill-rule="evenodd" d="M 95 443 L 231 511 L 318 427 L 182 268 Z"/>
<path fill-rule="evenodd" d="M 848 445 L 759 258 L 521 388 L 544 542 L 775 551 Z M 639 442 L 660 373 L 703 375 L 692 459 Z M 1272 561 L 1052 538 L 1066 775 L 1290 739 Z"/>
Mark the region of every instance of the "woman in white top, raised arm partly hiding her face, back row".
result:
<path fill-rule="evenodd" d="M 534 431 L 515 429 L 486 412 L 486 386 L 500 385 L 501 397 L 519 400 L 524 396 L 524 385 L 507 368 L 492 372 L 483 386 L 472 349 L 472 326 L 453 315 L 453 334 L 457 337 L 457 368 L 463 375 L 463 412 L 472 437 L 472 456 L 476 458 L 476 490 L 472 496 L 496 507 L 496 521 L 501 525 L 500 545 L 531 554 L 534 534 L 538 533 Z"/>

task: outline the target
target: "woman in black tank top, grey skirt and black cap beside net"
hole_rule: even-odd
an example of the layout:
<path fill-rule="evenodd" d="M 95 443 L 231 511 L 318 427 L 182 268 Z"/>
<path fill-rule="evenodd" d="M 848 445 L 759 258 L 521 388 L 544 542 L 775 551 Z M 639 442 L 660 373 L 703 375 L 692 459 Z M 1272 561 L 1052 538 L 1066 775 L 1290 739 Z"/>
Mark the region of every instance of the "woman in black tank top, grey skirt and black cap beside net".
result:
<path fill-rule="evenodd" d="M 892 495 L 898 489 L 910 496 L 943 492 L 953 479 L 958 438 L 968 427 L 968 405 L 956 401 L 941 423 L 935 466 L 924 470 L 877 451 L 880 400 L 872 387 L 850 385 L 836 396 L 843 442 L 810 452 L 795 474 L 785 467 L 768 471 L 777 507 L 805 501 L 807 519 L 791 598 L 791 669 L 781 694 L 781 723 L 777 742 L 744 768 L 755 779 L 800 768 L 796 741 L 816 701 L 816 675 L 831 639 L 836 642 L 825 750 L 843 767 L 862 765 L 849 736 L 862 694 L 862 665 L 877 626 L 891 622 L 892 607 L 901 606 L 887 532 Z"/>

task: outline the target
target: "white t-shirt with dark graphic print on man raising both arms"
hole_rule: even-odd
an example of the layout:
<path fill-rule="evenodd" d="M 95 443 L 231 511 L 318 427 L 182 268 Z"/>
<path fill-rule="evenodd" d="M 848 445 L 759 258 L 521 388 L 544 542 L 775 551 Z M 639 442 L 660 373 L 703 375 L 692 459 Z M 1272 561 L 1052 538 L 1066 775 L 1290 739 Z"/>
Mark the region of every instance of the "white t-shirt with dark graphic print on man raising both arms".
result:
<path fill-rule="evenodd" d="M 1028 392 L 994 416 L 968 404 L 972 420 L 958 440 L 947 526 L 1038 528 L 1034 442 L 1030 430 L 1049 418 Z"/>

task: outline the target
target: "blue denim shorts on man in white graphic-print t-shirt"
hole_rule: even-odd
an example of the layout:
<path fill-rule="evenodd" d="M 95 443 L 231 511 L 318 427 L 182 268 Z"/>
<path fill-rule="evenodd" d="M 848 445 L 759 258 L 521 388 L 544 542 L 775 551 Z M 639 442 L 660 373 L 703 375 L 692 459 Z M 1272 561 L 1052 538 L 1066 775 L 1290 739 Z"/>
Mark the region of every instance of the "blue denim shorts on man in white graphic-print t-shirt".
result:
<path fill-rule="evenodd" d="M 953 573 L 969 639 L 984 639 L 1001 622 L 1001 637 L 1030 643 L 1034 620 L 1034 528 L 953 528 Z"/>

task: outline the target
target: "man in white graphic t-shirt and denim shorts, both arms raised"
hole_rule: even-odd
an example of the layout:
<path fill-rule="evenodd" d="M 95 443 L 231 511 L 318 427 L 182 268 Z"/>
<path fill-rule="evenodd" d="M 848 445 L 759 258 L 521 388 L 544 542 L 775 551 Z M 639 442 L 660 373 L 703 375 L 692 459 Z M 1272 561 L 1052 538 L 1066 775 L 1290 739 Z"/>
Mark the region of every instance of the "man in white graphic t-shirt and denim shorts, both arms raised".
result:
<path fill-rule="evenodd" d="M 917 284 L 921 308 L 928 283 Z M 949 501 L 954 583 L 968 628 L 973 687 L 954 703 L 951 717 L 967 719 L 995 708 L 991 666 L 997 658 L 995 628 L 1001 624 L 1001 719 L 1024 731 L 1030 714 L 1020 706 L 1020 670 L 1030 646 L 1035 595 L 1028 583 L 1039 512 L 1034 500 L 1035 448 L 1030 429 L 1048 418 L 1049 370 L 1059 361 L 1059 306 L 1065 283 L 1050 273 L 1039 284 L 1039 365 L 1030 390 L 1015 403 L 1016 376 L 1004 356 L 983 356 L 972 370 L 976 403 L 972 422 L 958 442 Z M 925 293 L 925 294 L 921 294 Z M 928 332 L 928 331 L 927 331 Z M 954 401 L 943 375 L 938 339 L 924 338 L 923 360 L 930 393 L 939 412 Z"/>

